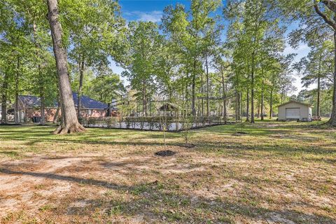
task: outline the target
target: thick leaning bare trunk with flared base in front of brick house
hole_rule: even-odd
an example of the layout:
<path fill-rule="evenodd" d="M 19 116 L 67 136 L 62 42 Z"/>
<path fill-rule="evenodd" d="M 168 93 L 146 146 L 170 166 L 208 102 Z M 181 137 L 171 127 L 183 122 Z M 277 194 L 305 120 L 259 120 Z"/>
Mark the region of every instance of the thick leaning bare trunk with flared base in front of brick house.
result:
<path fill-rule="evenodd" d="M 59 94 L 62 104 L 62 124 L 55 130 L 55 134 L 83 132 L 85 128 L 78 123 L 75 104 L 73 103 L 66 49 L 62 43 L 62 27 L 58 20 L 57 0 L 47 0 L 48 20 L 50 24 L 52 45 L 57 66 Z"/>

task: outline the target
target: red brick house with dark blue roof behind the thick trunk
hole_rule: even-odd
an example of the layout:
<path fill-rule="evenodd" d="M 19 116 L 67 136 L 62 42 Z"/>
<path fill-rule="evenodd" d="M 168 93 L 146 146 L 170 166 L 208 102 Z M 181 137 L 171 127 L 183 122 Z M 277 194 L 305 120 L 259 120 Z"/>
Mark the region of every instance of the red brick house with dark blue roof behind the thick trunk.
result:
<path fill-rule="evenodd" d="M 73 92 L 73 102 L 75 103 L 76 109 L 78 109 L 78 95 Z M 91 99 L 87 96 L 81 97 L 81 108 L 80 108 L 80 116 L 83 118 L 99 118 L 105 117 L 106 112 L 108 110 L 108 105 L 97 100 Z M 15 105 L 15 104 L 13 104 Z M 45 107 L 45 121 L 52 122 L 55 118 L 55 114 L 58 108 L 57 101 L 54 102 L 51 106 Z M 117 116 L 117 109 L 111 108 L 112 112 L 111 116 Z M 40 111 L 40 97 L 28 96 L 28 95 L 20 95 L 19 96 L 19 118 L 20 123 L 25 123 L 29 120 L 33 120 L 33 118 L 41 117 Z M 59 111 L 60 116 L 60 111 Z"/>

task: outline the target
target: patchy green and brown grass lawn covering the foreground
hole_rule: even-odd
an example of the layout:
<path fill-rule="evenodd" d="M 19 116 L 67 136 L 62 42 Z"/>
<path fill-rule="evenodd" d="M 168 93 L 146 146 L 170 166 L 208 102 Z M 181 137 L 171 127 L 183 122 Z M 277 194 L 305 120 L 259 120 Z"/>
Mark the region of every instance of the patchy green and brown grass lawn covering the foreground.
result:
<path fill-rule="evenodd" d="M 336 130 L 0 127 L 0 223 L 336 223 Z M 246 134 L 236 134 L 246 132 Z"/>

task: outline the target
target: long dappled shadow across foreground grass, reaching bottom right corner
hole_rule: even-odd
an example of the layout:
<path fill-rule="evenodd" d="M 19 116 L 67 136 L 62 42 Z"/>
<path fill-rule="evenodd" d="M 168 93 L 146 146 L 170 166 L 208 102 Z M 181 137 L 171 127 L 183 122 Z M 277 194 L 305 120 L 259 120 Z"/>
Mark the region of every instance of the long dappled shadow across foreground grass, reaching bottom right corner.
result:
<path fill-rule="evenodd" d="M 169 186 L 169 183 L 160 183 L 153 181 L 135 186 L 120 186 L 108 181 L 96 179 L 84 179 L 76 176 L 63 176 L 52 173 L 37 172 L 18 172 L 15 170 L 3 168 L 1 174 L 34 176 L 45 179 L 55 179 L 59 181 L 74 182 L 93 186 L 104 187 L 111 190 L 118 190 L 123 195 L 134 195 L 131 200 L 116 200 L 100 195 L 93 200 L 85 199 L 86 206 L 78 208 L 76 206 L 66 207 L 66 211 L 49 211 L 48 216 L 67 213 L 79 216 L 92 216 L 94 212 L 102 211 L 102 216 L 108 220 L 113 220 L 115 215 L 142 216 L 144 221 L 160 223 L 231 223 L 238 215 L 243 216 L 248 221 L 257 221 L 260 223 L 279 222 L 279 217 L 283 222 L 294 223 L 336 223 L 335 218 L 323 216 L 320 214 L 306 214 L 302 211 L 292 209 L 267 209 L 260 204 L 249 204 L 239 200 L 229 200 L 225 198 L 212 199 L 209 197 L 196 196 L 192 193 L 186 193 L 182 190 L 176 192 L 176 188 Z M 70 197 L 70 198 L 69 198 Z M 71 198 L 72 197 L 72 198 Z M 69 204 L 82 202 L 85 195 L 76 198 L 76 195 L 67 195 L 64 201 Z M 261 197 L 261 195 L 260 195 Z M 62 198 L 59 200 L 62 201 Z M 301 203 L 301 202 L 297 202 Z M 283 207 L 283 206 L 282 206 Z M 60 207 L 59 209 L 62 209 Z M 53 214 L 55 212 L 55 214 Z M 211 214 L 211 215 L 210 215 Z M 211 217 L 211 218 L 209 218 Z M 233 223 L 233 221 L 232 221 Z"/>

